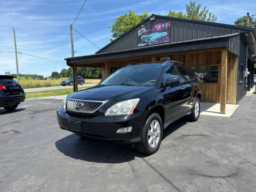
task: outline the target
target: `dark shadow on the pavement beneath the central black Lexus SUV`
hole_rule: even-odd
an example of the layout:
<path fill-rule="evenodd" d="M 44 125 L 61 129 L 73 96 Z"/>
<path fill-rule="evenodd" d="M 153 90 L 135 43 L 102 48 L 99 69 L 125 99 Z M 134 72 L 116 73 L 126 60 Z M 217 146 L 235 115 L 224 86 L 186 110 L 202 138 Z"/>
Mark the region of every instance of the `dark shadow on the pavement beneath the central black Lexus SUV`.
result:
<path fill-rule="evenodd" d="M 163 139 L 185 125 L 185 119 L 180 119 L 164 130 Z M 131 145 L 122 145 L 107 140 L 86 138 L 81 139 L 76 134 L 70 134 L 55 142 L 56 148 L 63 154 L 95 163 L 123 163 L 132 161 L 135 157 L 146 157 Z"/>

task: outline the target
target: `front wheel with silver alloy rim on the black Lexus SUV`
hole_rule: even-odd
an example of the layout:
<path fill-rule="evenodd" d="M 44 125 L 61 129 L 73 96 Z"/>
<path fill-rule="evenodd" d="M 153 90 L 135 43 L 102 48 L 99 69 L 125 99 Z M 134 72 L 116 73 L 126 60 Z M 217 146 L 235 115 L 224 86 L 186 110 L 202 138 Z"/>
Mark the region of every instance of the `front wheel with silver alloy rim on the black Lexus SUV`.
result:
<path fill-rule="evenodd" d="M 157 122 L 159 126 L 157 126 L 156 130 L 153 130 L 153 126 L 157 124 Z M 150 136 L 149 131 L 151 131 L 151 134 L 153 135 Z M 141 130 L 140 142 L 136 143 L 135 147 L 141 153 L 151 155 L 156 153 L 156 151 L 159 149 L 162 138 L 163 138 L 162 119 L 157 113 L 153 113 L 153 114 L 150 114 L 149 117 L 146 119 L 146 122 L 144 123 Z M 150 142 L 149 140 L 152 142 Z"/>

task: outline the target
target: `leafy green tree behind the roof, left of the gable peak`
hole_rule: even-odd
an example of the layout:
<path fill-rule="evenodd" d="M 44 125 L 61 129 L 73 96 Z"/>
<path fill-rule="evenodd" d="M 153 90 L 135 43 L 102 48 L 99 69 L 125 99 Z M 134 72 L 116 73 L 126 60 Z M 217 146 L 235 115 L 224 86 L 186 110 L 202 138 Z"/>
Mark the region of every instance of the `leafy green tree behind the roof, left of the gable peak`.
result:
<path fill-rule="evenodd" d="M 116 18 L 114 25 L 109 27 L 112 32 L 111 36 L 118 38 L 146 18 L 148 18 L 147 10 L 142 12 L 142 14 L 134 14 L 134 11 L 129 10 L 129 14 L 119 16 Z M 110 41 L 113 41 L 113 39 L 110 39 Z"/>

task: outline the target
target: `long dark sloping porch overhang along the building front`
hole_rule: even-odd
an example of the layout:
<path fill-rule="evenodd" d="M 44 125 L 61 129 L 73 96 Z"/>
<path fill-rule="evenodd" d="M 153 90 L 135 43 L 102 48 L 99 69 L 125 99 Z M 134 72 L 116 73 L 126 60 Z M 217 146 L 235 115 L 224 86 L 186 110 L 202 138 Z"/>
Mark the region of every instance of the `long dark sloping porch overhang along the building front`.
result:
<path fill-rule="evenodd" d="M 164 54 L 164 53 L 173 53 L 180 51 L 193 51 L 193 50 L 202 50 L 202 49 L 211 49 L 219 47 L 228 47 L 229 37 L 239 35 L 239 34 L 230 34 L 222 35 L 201 39 L 193 39 L 182 42 L 173 42 L 165 43 L 159 45 L 151 45 L 147 47 L 137 47 L 130 50 L 122 51 L 113 51 L 108 53 L 98 53 L 92 55 L 85 55 L 81 57 L 66 58 L 67 65 L 73 67 L 76 63 L 85 63 L 85 62 L 101 62 L 104 60 L 110 59 L 123 59 L 131 57 L 141 57 L 143 55 L 153 55 L 153 54 Z"/>

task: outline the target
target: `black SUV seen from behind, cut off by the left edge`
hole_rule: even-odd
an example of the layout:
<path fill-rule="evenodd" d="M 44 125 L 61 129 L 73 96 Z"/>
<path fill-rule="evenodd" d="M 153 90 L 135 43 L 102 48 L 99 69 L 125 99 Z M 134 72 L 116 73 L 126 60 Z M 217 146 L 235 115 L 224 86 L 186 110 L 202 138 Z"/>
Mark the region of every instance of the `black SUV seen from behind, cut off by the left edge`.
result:
<path fill-rule="evenodd" d="M 23 87 L 10 75 L 0 75 L 0 107 L 12 111 L 26 98 Z"/>

